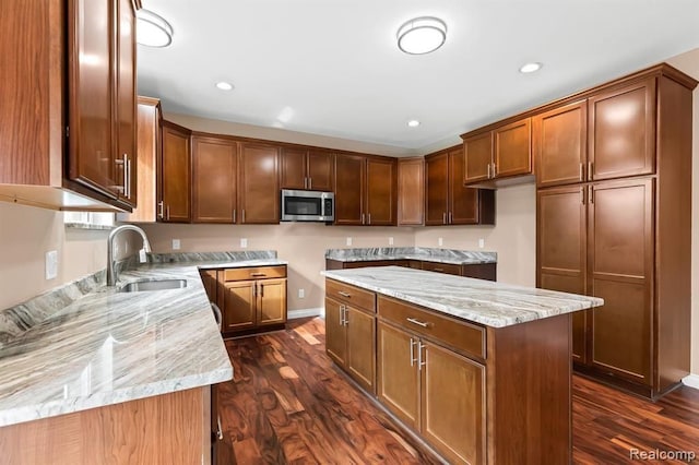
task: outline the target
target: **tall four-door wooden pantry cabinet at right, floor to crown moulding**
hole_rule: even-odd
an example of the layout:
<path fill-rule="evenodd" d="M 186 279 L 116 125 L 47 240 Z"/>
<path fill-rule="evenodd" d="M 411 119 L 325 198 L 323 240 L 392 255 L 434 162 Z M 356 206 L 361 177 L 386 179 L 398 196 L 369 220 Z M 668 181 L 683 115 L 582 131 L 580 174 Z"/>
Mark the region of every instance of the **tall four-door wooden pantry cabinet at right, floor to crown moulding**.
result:
<path fill-rule="evenodd" d="M 689 372 L 696 85 L 663 64 L 533 118 L 537 286 L 602 297 L 574 367 L 651 398 Z"/>

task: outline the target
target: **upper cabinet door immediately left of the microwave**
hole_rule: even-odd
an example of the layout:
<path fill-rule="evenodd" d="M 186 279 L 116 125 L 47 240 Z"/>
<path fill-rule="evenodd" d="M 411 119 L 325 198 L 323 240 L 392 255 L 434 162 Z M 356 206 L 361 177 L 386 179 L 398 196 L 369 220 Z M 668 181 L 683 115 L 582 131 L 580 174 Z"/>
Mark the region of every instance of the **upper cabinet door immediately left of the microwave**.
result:
<path fill-rule="evenodd" d="M 279 157 L 279 148 L 273 145 L 240 144 L 238 223 L 280 223 Z"/>

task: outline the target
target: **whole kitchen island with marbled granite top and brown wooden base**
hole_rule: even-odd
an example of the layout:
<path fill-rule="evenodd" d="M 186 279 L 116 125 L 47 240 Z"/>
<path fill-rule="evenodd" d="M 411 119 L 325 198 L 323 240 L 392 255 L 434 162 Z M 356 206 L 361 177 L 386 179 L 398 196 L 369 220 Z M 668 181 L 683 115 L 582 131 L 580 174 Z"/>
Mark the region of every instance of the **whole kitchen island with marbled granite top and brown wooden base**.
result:
<path fill-rule="evenodd" d="M 324 275 L 328 355 L 449 462 L 570 463 L 570 314 L 602 299 L 399 266 Z"/>

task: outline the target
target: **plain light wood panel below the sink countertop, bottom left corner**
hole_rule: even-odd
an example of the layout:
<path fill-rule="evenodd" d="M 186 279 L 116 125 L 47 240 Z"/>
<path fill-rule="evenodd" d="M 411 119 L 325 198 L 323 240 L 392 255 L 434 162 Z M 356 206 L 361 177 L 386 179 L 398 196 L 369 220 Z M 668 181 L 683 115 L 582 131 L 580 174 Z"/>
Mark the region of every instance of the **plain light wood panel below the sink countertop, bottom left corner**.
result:
<path fill-rule="evenodd" d="M 0 428 L 2 463 L 211 463 L 210 388 Z"/>

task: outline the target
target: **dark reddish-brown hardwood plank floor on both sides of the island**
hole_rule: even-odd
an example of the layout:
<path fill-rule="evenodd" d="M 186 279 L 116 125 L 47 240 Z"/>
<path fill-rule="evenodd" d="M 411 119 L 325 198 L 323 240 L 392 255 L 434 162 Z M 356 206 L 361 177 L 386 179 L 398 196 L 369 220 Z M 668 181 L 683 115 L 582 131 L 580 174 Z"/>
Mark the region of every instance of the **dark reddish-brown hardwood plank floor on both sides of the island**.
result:
<path fill-rule="evenodd" d="M 321 319 L 226 341 L 235 377 L 218 386 L 221 463 L 440 463 L 333 366 L 324 342 Z M 632 463 L 632 450 L 699 456 L 699 391 L 653 404 L 574 377 L 573 463 Z"/>

